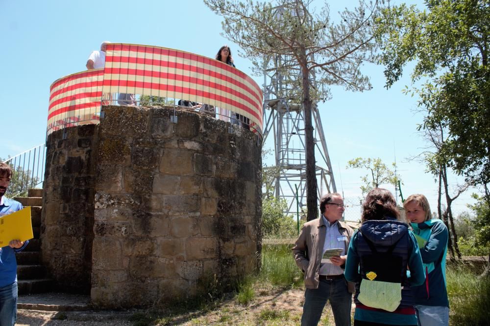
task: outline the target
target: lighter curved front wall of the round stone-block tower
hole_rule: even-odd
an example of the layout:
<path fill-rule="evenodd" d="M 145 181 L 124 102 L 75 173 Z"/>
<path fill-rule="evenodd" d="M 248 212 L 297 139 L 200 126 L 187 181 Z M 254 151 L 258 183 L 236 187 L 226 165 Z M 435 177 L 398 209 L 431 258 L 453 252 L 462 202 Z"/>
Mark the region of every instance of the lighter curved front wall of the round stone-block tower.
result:
<path fill-rule="evenodd" d="M 194 111 L 177 111 L 176 124 L 169 108 L 103 111 L 92 139 L 91 268 L 80 271 L 88 272 L 93 302 L 166 304 L 197 294 L 210 276 L 226 287 L 252 272 L 261 251 L 257 136 L 237 126 L 229 133 L 229 123 Z"/>

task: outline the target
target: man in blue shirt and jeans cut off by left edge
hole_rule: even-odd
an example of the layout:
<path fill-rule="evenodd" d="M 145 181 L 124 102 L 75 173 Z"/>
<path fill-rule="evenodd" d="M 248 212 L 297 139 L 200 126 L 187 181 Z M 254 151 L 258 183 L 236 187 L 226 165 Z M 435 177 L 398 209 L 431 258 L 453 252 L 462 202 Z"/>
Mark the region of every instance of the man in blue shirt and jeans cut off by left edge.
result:
<path fill-rule="evenodd" d="M 12 177 L 8 164 L 0 163 L 0 217 L 23 209 L 16 200 L 6 198 L 5 192 Z M 17 319 L 17 261 L 15 253 L 22 251 L 27 241 L 12 239 L 0 248 L 0 325 L 13 326 Z"/>

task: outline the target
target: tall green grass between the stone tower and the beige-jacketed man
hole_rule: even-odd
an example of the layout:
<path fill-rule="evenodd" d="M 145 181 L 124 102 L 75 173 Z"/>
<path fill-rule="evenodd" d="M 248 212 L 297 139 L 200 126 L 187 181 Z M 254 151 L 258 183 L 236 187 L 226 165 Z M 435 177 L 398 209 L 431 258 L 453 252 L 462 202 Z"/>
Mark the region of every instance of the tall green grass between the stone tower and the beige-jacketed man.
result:
<path fill-rule="evenodd" d="M 290 244 L 263 246 L 259 280 L 281 287 L 295 287 L 302 284 L 303 275 L 293 260 Z"/>

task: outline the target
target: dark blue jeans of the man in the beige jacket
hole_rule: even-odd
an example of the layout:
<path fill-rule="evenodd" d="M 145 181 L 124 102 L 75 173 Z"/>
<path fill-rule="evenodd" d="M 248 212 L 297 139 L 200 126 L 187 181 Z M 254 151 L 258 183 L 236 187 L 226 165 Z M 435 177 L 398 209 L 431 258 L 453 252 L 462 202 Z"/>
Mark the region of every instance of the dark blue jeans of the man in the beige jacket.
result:
<path fill-rule="evenodd" d="M 306 289 L 301 326 L 316 326 L 323 307 L 330 301 L 336 326 L 350 326 L 352 294 L 347 290 L 344 278 L 336 280 L 320 279 L 317 289 Z"/>

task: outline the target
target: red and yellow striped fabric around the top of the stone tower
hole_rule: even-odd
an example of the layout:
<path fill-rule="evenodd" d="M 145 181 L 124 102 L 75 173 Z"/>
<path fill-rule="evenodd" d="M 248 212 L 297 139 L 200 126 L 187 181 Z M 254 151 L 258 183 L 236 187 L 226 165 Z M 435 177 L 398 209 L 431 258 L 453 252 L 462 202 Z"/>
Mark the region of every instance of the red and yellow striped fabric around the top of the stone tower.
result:
<path fill-rule="evenodd" d="M 104 69 L 63 77 L 51 85 L 48 133 L 77 119 L 98 123 L 102 94 L 111 100 L 117 93 L 227 109 L 250 119 L 252 128 L 262 133 L 262 91 L 242 71 L 194 53 L 124 43 L 107 44 Z"/>

